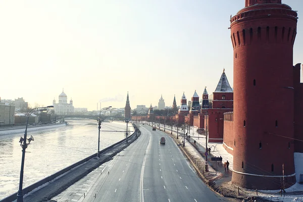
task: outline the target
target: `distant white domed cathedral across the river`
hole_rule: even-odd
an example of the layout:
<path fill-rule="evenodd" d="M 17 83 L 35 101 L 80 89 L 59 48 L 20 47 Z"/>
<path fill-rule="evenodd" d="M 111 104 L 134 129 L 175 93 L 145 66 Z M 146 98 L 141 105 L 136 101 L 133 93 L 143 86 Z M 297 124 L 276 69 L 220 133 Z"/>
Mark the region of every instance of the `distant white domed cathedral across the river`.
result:
<path fill-rule="evenodd" d="M 55 113 L 57 115 L 73 115 L 74 114 L 74 106 L 73 106 L 73 100 L 70 100 L 70 103 L 67 103 L 67 95 L 64 93 L 64 90 L 62 90 L 62 93 L 59 95 L 59 103 L 56 103 L 56 100 L 54 98 L 53 100 L 53 106 Z"/>

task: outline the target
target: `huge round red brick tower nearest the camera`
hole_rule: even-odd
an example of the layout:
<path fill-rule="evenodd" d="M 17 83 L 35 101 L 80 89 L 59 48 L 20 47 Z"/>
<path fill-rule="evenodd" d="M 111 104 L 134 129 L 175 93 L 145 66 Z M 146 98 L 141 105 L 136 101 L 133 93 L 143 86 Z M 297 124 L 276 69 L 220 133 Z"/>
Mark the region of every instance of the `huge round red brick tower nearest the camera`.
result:
<path fill-rule="evenodd" d="M 234 59 L 232 182 L 280 189 L 295 182 L 292 52 L 297 13 L 281 0 L 246 0 L 231 17 Z M 283 180 L 282 180 L 283 181 Z"/>

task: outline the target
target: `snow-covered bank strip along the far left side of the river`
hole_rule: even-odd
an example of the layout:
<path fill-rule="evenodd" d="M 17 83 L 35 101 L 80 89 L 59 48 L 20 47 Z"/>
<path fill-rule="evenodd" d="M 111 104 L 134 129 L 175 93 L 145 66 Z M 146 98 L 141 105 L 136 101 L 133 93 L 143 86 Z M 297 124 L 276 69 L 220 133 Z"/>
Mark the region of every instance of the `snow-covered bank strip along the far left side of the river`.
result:
<path fill-rule="evenodd" d="M 55 124 L 47 124 L 47 125 L 35 125 L 35 126 L 27 126 L 27 132 L 58 128 L 66 126 L 65 123 L 55 123 Z M 10 128 L 1 128 L 0 135 L 9 135 L 15 133 L 23 133 L 25 131 L 26 126 L 15 126 Z"/>

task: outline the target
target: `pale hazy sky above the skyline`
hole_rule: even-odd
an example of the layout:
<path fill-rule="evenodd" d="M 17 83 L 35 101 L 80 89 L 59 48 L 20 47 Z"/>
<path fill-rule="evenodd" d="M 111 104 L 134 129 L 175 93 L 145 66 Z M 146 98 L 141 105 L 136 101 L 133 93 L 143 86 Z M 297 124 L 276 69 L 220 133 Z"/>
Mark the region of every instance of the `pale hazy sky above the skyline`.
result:
<path fill-rule="evenodd" d="M 293 64 L 303 63 L 301 0 Z M 211 94 L 223 68 L 233 86 L 230 15 L 244 0 L 1 1 L 2 99 L 52 105 L 64 88 L 75 107 L 177 105 Z M 107 101 L 107 102 L 106 102 Z"/>

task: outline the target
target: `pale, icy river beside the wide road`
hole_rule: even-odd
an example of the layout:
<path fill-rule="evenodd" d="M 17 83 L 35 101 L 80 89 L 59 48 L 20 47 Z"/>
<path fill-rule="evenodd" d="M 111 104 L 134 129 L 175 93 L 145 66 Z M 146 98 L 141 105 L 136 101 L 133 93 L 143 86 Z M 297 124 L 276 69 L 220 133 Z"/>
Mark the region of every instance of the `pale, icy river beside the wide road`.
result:
<path fill-rule="evenodd" d="M 94 120 L 66 120 L 68 126 L 28 132 L 34 141 L 26 149 L 23 187 L 76 163 L 97 151 Z M 131 126 L 131 124 L 128 124 Z M 124 122 L 104 122 L 101 130 L 125 131 Z M 133 131 L 132 127 L 128 130 Z M 0 199 L 19 188 L 23 133 L 0 135 Z M 132 134 L 132 132 L 130 133 Z M 125 138 L 125 132 L 100 132 L 100 150 Z"/>

